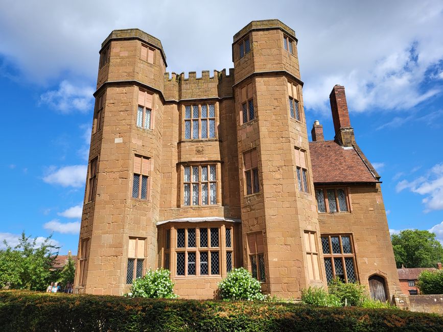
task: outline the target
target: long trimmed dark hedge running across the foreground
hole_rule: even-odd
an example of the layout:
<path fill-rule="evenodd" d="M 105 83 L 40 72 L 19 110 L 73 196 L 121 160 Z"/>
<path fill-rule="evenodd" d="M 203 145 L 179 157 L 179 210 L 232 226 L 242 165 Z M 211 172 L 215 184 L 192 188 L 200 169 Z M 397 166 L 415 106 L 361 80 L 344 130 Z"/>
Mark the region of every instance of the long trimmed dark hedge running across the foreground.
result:
<path fill-rule="evenodd" d="M 389 309 L 0 291 L 1 331 L 441 331 L 443 317 Z"/>

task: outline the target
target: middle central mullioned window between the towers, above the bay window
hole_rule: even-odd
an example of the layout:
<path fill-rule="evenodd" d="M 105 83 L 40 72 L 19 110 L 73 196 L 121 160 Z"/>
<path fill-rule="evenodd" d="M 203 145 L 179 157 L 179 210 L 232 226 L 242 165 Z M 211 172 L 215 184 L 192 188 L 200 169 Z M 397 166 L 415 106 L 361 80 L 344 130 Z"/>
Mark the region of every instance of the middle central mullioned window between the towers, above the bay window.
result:
<path fill-rule="evenodd" d="M 217 204 L 217 164 L 183 167 L 183 205 Z"/>

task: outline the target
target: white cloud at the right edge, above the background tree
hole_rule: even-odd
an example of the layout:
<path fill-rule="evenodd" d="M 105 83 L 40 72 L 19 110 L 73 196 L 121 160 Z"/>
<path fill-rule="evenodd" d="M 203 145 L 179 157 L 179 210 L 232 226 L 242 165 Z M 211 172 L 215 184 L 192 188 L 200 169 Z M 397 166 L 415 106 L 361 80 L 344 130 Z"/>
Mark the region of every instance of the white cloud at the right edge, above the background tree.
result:
<path fill-rule="evenodd" d="M 443 209 L 443 163 L 436 164 L 425 175 L 412 181 L 402 180 L 397 183 L 396 191 L 400 193 L 405 189 L 426 196 L 422 202 L 425 212 Z"/>

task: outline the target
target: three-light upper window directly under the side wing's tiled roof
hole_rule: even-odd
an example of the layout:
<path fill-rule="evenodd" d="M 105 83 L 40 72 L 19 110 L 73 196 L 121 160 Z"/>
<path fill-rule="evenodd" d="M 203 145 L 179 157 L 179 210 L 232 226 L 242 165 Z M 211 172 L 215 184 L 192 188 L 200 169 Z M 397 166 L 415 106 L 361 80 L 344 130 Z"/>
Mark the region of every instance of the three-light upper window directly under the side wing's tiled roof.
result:
<path fill-rule="evenodd" d="M 347 188 L 316 188 L 318 212 L 349 212 L 351 206 Z"/>

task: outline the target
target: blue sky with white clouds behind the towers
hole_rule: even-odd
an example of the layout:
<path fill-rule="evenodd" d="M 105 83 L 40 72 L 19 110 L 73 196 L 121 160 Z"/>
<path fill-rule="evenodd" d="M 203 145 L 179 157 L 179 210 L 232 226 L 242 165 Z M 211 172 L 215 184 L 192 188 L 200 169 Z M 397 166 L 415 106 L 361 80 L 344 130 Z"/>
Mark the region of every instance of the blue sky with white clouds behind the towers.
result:
<path fill-rule="evenodd" d="M 382 176 L 389 228 L 443 241 L 443 3 L 0 3 L 3 146 L 0 238 L 77 251 L 101 42 L 113 29 L 158 37 L 169 72 L 232 67 L 232 36 L 278 18 L 299 39 L 308 131 L 334 136 L 329 93 L 346 88 L 357 143 Z"/>

